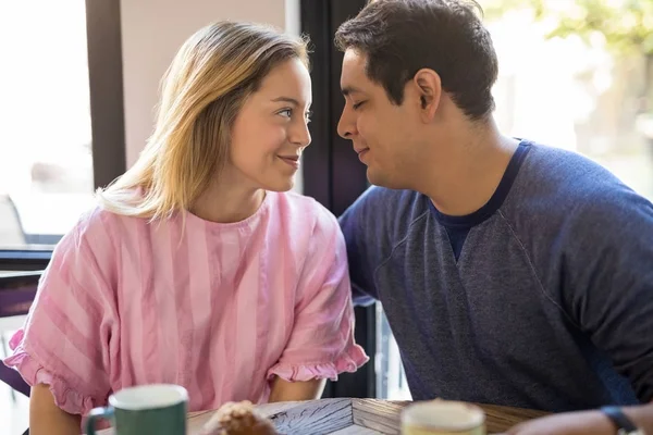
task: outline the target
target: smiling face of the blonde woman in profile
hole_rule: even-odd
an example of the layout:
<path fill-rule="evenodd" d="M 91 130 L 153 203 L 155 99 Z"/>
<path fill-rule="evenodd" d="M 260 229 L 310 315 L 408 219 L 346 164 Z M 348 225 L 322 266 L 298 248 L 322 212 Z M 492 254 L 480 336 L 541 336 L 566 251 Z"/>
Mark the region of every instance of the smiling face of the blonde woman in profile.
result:
<path fill-rule="evenodd" d="M 231 169 L 256 188 L 293 188 L 301 152 L 310 144 L 310 75 L 298 59 L 275 66 L 236 116 Z"/>

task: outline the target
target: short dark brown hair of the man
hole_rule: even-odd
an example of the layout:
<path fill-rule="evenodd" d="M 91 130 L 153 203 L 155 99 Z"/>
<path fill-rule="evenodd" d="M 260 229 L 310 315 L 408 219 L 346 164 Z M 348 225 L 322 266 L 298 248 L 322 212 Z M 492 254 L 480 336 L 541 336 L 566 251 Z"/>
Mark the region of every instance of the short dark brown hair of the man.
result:
<path fill-rule="evenodd" d="M 421 69 L 440 75 L 442 88 L 470 119 L 494 110 L 498 74 L 490 33 L 473 0 L 375 0 L 335 34 L 337 48 L 367 57 L 366 74 L 402 104 L 404 87 Z"/>

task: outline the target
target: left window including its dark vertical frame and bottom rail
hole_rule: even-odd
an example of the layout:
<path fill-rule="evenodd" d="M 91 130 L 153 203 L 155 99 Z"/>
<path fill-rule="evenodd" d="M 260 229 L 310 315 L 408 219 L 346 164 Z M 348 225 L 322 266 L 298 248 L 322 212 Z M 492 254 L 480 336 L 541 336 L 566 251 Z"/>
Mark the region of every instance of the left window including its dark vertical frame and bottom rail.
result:
<path fill-rule="evenodd" d="M 0 270 L 44 268 L 124 172 L 119 9 L 95 3 L 0 2 Z"/>

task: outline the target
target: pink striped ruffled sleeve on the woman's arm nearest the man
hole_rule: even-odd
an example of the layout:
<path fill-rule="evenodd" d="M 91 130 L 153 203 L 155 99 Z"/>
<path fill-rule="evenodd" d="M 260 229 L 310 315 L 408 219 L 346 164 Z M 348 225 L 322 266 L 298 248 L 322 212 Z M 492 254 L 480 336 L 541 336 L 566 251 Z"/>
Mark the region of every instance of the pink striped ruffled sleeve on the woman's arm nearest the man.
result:
<path fill-rule="evenodd" d="M 268 378 L 337 380 L 369 358 L 354 341 L 354 307 L 345 240 L 335 217 L 320 210 L 299 279 L 295 324 Z"/>

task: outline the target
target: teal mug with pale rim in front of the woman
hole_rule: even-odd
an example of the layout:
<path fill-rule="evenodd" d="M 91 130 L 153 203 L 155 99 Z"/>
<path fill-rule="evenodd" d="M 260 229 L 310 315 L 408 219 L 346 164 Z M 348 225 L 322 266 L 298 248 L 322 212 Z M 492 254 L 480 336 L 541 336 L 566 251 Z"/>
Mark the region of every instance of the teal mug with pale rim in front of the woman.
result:
<path fill-rule="evenodd" d="M 188 391 L 178 385 L 153 384 L 121 389 L 109 406 L 95 408 L 86 434 L 96 434 L 96 422 L 108 420 L 115 435 L 186 435 Z"/>

